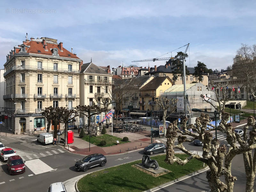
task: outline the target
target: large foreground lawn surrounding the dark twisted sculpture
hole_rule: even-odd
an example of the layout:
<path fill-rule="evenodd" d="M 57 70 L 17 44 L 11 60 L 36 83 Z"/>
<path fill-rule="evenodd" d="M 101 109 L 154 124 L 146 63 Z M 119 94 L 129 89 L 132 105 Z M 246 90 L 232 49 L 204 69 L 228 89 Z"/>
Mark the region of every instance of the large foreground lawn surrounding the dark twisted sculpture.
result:
<path fill-rule="evenodd" d="M 176 156 L 184 159 L 187 155 L 176 154 Z M 157 160 L 160 167 L 171 172 L 159 177 L 153 177 L 132 167 L 132 164 L 141 163 L 141 160 L 134 161 L 84 176 L 77 182 L 78 190 L 80 192 L 139 192 L 154 188 L 203 168 L 203 163 L 196 159 L 192 159 L 183 166 L 177 163 L 172 165 L 166 164 L 164 162 L 165 155 L 153 156 L 151 159 Z"/>

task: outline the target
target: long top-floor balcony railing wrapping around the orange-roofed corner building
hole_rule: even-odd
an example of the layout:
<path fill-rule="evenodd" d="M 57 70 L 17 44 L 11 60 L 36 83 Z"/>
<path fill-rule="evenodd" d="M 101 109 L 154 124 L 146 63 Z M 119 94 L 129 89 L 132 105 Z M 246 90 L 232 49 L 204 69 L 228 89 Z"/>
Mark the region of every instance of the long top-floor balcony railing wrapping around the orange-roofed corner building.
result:
<path fill-rule="evenodd" d="M 53 67 L 44 67 L 43 68 L 40 68 L 38 69 L 37 66 L 13 66 L 12 68 L 8 69 L 5 73 L 4 73 L 4 76 L 8 75 L 9 73 L 11 73 L 13 70 L 42 70 L 42 71 L 57 71 L 57 72 L 64 72 L 64 73 L 80 73 L 80 70 L 72 70 L 72 71 L 69 71 L 67 69 L 63 69 L 63 68 L 58 68 L 57 70 L 56 69 L 53 69 Z"/>

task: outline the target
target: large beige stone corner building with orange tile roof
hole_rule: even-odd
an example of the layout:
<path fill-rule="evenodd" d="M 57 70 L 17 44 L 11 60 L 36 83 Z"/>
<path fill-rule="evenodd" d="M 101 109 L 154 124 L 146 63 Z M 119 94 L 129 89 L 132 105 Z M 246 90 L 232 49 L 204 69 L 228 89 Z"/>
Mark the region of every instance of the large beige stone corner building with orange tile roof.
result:
<path fill-rule="evenodd" d="M 5 126 L 14 134 L 33 134 L 47 127 L 45 107 L 76 107 L 82 63 L 56 39 L 31 37 L 15 46 L 4 64 Z"/>

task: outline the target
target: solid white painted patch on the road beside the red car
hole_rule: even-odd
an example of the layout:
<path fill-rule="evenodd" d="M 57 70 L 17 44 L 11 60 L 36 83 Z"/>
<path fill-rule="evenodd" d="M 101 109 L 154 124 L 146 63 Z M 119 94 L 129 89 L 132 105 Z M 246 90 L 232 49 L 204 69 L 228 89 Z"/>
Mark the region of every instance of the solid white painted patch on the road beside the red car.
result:
<path fill-rule="evenodd" d="M 35 175 L 54 170 L 49 165 L 47 165 L 43 161 L 41 161 L 40 159 L 33 159 L 30 161 L 26 161 L 26 166 Z M 38 169 L 38 167 L 40 167 L 40 169 Z"/>

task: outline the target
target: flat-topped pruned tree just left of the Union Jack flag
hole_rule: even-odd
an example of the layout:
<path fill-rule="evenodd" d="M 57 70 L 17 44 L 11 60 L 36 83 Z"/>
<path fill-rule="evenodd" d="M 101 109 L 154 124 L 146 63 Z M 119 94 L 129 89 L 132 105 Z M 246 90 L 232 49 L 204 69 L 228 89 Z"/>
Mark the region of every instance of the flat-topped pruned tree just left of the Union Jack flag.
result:
<path fill-rule="evenodd" d="M 88 118 L 88 135 L 89 135 L 91 131 L 91 117 L 103 112 L 104 108 L 101 108 L 100 106 L 96 105 L 95 102 L 93 102 L 92 106 L 78 105 L 76 106 L 75 109 L 78 110 L 79 113 L 83 114 Z"/>

